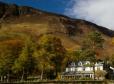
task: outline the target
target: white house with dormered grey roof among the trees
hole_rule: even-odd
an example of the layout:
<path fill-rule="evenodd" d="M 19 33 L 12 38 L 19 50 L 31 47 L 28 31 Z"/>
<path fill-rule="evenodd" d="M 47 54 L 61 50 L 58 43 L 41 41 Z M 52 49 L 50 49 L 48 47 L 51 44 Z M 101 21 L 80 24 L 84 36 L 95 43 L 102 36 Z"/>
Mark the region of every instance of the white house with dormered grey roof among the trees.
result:
<path fill-rule="evenodd" d="M 78 63 L 72 62 L 66 67 L 62 77 L 88 77 L 94 79 L 94 70 L 103 70 L 103 63 L 96 62 L 94 65 L 90 61 L 79 61 Z"/>

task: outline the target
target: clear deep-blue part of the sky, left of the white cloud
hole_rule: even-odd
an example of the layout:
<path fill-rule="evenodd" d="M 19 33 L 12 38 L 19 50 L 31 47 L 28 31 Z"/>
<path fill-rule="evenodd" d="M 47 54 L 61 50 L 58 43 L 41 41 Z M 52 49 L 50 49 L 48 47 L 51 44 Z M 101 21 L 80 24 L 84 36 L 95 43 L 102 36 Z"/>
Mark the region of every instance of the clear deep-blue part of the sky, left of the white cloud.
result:
<path fill-rule="evenodd" d="M 26 5 L 42 9 L 49 12 L 64 14 L 65 8 L 68 8 L 69 0 L 0 0 L 18 5 Z"/>

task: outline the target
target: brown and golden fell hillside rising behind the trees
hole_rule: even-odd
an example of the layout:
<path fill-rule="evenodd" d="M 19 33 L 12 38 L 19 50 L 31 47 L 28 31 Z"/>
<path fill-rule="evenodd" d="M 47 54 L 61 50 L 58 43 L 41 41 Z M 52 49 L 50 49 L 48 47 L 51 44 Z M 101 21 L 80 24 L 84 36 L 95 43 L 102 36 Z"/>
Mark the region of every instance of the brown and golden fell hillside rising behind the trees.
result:
<path fill-rule="evenodd" d="M 99 52 L 100 55 L 111 55 L 114 49 L 112 44 L 114 31 L 112 30 L 85 20 L 0 2 L 1 35 L 24 33 L 37 39 L 43 34 L 52 34 L 61 39 L 67 50 L 76 50 L 80 48 L 88 32 L 92 31 L 100 32 L 105 39 L 104 50 Z"/>

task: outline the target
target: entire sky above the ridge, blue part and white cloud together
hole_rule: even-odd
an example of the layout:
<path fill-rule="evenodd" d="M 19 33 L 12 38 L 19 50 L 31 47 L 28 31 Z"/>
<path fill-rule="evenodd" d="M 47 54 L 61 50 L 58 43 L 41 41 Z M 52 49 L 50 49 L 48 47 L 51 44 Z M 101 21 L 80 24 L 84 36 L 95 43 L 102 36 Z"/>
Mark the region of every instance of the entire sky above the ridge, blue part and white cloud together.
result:
<path fill-rule="evenodd" d="M 114 0 L 0 0 L 84 19 L 114 30 Z"/>

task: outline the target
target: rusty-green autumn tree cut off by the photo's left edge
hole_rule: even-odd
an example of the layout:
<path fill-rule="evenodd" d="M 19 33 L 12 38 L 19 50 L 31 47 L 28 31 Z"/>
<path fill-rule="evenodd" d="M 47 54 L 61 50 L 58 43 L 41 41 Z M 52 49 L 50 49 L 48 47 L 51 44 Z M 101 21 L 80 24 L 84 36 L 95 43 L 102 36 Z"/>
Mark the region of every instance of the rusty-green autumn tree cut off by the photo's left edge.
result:
<path fill-rule="evenodd" d="M 12 50 L 10 46 L 0 45 L 0 76 L 3 81 L 3 76 L 7 77 L 9 81 L 9 75 L 11 67 L 13 66 L 14 56 L 12 56 Z"/>

